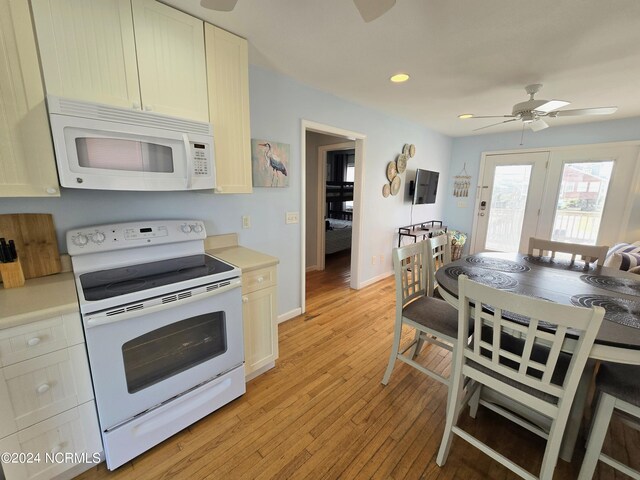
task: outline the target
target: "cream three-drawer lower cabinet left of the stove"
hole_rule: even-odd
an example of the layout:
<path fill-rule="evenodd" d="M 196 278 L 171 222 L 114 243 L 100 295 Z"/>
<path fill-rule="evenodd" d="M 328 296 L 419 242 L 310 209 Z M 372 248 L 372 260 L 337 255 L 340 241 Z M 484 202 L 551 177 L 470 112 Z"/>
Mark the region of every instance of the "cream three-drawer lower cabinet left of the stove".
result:
<path fill-rule="evenodd" d="M 81 464 L 87 469 L 100 462 L 78 313 L 0 330 L 0 365 L 0 453 L 7 480 L 45 480 L 76 467 L 78 474 Z"/>

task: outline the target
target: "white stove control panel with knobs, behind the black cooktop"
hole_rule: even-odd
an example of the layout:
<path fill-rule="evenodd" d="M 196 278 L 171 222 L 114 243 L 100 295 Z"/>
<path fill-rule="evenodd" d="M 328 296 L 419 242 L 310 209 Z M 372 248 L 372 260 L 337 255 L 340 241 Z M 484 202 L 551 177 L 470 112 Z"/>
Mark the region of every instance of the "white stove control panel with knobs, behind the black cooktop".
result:
<path fill-rule="evenodd" d="M 70 230 L 67 247 L 70 255 L 80 255 L 203 240 L 206 236 L 204 223 L 200 220 L 153 220 Z"/>

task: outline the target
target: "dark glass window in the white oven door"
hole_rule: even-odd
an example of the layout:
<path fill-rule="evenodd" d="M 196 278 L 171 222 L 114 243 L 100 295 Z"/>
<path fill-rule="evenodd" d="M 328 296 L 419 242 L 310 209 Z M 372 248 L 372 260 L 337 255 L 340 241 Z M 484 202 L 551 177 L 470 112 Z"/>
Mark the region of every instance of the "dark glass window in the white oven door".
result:
<path fill-rule="evenodd" d="M 206 313 L 145 333 L 122 346 L 129 393 L 227 351 L 224 312 Z"/>

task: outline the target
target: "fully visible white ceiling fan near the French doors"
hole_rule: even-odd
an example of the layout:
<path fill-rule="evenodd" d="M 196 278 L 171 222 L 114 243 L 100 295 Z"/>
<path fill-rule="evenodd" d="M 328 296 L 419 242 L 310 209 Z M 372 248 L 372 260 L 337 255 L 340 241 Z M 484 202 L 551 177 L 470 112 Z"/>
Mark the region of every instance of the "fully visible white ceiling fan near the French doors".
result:
<path fill-rule="evenodd" d="M 538 93 L 542 88 L 542 84 L 534 83 L 524 87 L 529 94 L 529 100 L 526 102 L 516 103 L 513 106 L 511 115 L 473 115 L 465 113 L 458 115 L 458 118 L 508 118 L 498 123 L 492 123 L 491 125 L 485 125 L 484 127 L 476 128 L 473 131 L 483 130 L 485 128 L 494 127 L 496 125 L 502 125 L 503 123 L 515 122 L 521 120 L 523 126 L 528 126 L 534 132 L 544 130 L 549 127 L 549 124 L 542 118 L 555 118 L 555 117 L 569 117 L 579 115 L 610 115 L 618 110 L 618 107 L 596 107 L 596 108 L 578 108 L 574 110 L 558 110 L 559 108 L 566 107 L 570 102 L 564 100 L 536 100 L 533 96 Z"/>

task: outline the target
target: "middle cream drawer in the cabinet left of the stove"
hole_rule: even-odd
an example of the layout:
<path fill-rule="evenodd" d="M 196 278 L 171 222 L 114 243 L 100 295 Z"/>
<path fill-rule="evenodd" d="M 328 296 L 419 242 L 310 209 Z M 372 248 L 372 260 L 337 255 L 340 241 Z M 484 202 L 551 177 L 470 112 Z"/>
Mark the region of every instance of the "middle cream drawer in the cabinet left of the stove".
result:
<path fill-rule="evenodd" d="M 84 344 L 0 371 L 0 438 L 93 398 Z"/>

